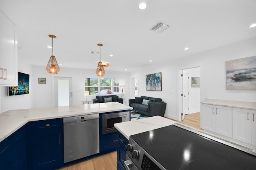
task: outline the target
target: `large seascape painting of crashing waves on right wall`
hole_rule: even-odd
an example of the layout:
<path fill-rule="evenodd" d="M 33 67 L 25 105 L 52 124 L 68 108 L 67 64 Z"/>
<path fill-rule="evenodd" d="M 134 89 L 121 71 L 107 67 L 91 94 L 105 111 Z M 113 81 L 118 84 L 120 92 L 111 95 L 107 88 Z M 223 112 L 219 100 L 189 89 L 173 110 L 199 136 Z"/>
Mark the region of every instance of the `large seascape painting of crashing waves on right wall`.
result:
<path fill-rule="evenodd" d="M 226 61 L 226 90 L 256 90 L 256 56 Z"/>

